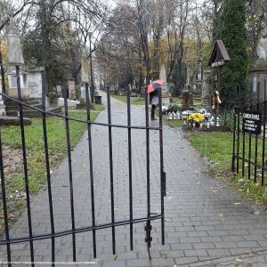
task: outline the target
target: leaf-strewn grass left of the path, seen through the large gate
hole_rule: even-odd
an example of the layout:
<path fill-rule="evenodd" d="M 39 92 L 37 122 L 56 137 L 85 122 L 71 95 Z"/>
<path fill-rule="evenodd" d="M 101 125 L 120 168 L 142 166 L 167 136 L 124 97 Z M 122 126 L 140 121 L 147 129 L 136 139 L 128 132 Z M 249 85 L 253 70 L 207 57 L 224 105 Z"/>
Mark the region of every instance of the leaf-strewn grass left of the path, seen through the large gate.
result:
<path fill-rule="evenodd" d="M 102 105 L 94 105 L 92 120 L 104 109 Z M 85 110 L 70 110 L 69 117 L 86 120 Z M 66 124 L 59 117 L 47 117 L 47 138 L 51 171 L 58 168 L 67 156 Z M 86 123 L 69 121 L 71 149 L 85 134 Z M 21 135 L 19 126 L 8 126 L 1 129 L 4 146 L 4 173 L 6 177 L 6 193 L 10 223 L 16 221 L 26 205 L 25 182 L 22 165 Z M 28 185 L 30 195 L 36 195 L 46 182 L 46 168 L 44 158 L 44 131 L 42 118 L 33 118 L 32 125 L 25 126 L 25 142 L 28 159 Z M 10 166 L 14 167 L 10 167 Z M 0 218 L 3 219 L 2 202 L 0 204 Z M 3 226 L 3 220 L 2 220 Z M 3 228 L 2 228 L 3 229 Z"/>

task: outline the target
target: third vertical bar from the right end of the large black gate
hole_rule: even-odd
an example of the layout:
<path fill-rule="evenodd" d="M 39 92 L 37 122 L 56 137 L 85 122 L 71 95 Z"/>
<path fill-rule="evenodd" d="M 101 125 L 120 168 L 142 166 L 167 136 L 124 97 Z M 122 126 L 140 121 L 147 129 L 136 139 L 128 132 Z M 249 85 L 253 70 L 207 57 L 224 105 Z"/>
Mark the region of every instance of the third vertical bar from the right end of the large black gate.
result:
<path fill-rule="evenodd" d="M 129 161 L 129 205 L 130 205 L 130 247 L 134 250 L 133 229 L 133 172 L 132 172 L 132 131 L 131 131 L 131 92 L 127 86 L 127 119 L 128 119 L 128 161 Z"/>

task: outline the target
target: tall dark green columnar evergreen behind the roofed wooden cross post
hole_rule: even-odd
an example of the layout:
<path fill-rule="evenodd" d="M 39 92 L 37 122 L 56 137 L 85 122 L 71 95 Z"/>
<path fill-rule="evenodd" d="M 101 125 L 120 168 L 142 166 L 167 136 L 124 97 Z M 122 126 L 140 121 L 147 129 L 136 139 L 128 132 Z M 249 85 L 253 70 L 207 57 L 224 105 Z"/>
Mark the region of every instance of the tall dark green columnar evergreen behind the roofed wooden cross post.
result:
<path fill-rule="evenodd" d="M 231 58 L 229 65 L 222 70 L 221 97 L 224 103 L 247 97 L 246 2 L 247 0 L 227 0 L 218 28 L 218 36 L 223 40 Z"/>

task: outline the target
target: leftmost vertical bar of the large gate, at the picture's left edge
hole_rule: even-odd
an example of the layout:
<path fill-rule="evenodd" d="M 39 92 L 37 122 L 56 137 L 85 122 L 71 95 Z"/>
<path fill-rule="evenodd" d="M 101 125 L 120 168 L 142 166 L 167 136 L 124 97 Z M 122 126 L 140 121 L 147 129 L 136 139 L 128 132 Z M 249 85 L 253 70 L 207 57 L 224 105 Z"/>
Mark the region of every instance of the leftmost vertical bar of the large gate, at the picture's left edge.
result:
<path fill-rule="evenodd" d="M 4 162 L 3 162 L 3 147 L 2 147 L 2 134 L 0 131 L 0 174 L 1 174 L 1 188 L 2 188 L 2 201 L 3 201 L 3 211 L 4 211 L 4 233 L 7 252 L 8 267 L 12 266 L 11 263 L 11 250 L 10 250 L 10 236 L 9 236 L 9 226 L 8 226 L 8 214 L 7 214 L 7 203 L 6 203 L 6 191 L 5 191 L 5 179 L 4 179 Z"/>

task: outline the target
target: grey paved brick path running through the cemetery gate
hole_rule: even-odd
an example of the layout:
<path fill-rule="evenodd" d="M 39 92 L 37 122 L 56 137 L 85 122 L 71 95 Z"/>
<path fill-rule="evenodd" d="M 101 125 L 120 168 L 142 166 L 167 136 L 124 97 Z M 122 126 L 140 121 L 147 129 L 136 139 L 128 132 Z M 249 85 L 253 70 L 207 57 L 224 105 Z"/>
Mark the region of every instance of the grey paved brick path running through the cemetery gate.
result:
<path fill-rule="evenodd" d="M 105 101 L 105 99 L 104 99 Z M 125 104 L 112 100 L 112 121 L 126 123 Z M 133 107 L 133 124 L 143 125 L 144 109 Z M 106 111 L 99 122 L 107 121 Z M 153 122 L 155 124 L 155 122 Z M 129 217 L 127 130 L 113 129 L 114 191 L 116 221 Z M 146 215 L 145 132 L 133 130 L 134 216 Z M 151 133 L 151 212 L 160 207 L 158 133 Z M 62 141 L 65 142 L 65 141 Z M 90 180 L 86 134 L 72 152 L 76 227 L 91 225 Z M 56 153 L 56 151 L 55 151 Z M 167 174 L 166 245 L 160 243 L 160 222 L 153 222 L 152 263 L 148 261 L 143 223 L 134 225 L 134 251 L 130 251 L 129 227 L 116 228 L 117 257 L 112 255 L 111 230 L 97 231 L 98 263 L 60 264 L 72 261 L 71 237 L 56 239 L 56 266 L 209 266 L 212 260 L 267 250 L 267 214 L 242 200 L 227 183 L 208 172 L 205 158 L 191 149 L 180 130 L 164 132 Z M 93 126 L 93 165 L 97 223 L 110 222 L 108 128 Z M 44 190 L 31 199 L 34 234 L 50 232 L 48 194 Z M 55 230 L 71 229 L 67 159 L 53 173 Z M 27 214 L 12 227 L 11 236 L 28 235 Z M 93 261 L 92 232 L 80 233 L 77 261 Z M 12 260 L 29 261 L 28 243 L 12 245 Z M 51 260 L 51 240 L 34 241 L 36 262 Z M 5 258 L 5 247 L 0 256 Z M 255 258 L 257 256 L 255 255 Z M 261 256 L 261 259 L 264 258 Z M 265 258 L 264 258 L 265 260 Z M 262 261 L 262 260 L 261 260 Z M 222 262 L 222 264 L 230 262 Z M 201 265 L 202 264 L 202 265 Z M 204 265 L 203 265 L 204 264 Z M 206 265 L 205 265 L 206 264 Z M 236 264 L 236 263 L 235 263 Z M 36 264 L 43 266 L 44 264 Z M 4 264 L 3 264 L 4 266 Z M 29 266 L 20 263 L 19 266 Z M 223 265 L 224 266 L 224 265 Z M 260 266 L 260 265 L 255 265 Z M 267 263 L 265 263 L 267 266 Z"/>

